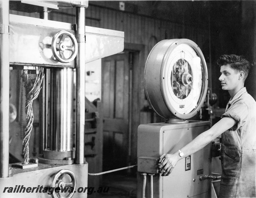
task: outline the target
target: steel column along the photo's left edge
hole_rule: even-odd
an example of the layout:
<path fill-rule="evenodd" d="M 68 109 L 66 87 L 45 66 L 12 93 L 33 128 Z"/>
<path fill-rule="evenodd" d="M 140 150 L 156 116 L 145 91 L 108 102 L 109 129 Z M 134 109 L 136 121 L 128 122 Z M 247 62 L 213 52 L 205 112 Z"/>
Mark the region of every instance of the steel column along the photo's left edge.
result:
<path fill-rule="evenodd" d="M 9 175 L 9 1 L 0 0 L 0 177 Z"/>

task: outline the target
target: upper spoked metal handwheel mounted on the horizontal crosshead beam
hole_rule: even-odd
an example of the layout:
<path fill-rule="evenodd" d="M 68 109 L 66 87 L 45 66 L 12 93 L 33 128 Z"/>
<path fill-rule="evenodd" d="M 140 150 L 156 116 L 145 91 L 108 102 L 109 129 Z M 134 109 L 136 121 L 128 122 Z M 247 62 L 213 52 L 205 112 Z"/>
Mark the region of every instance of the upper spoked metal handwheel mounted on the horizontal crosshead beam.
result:
<path fill-rule="evenodd" d="M 72 41 L 71 46 L 66 46 L 64 44 L 64 40 L 67 37 L 69 37 L 70 40 Z M 60 41 L 57 43 L 58 38 L 60 38 Z M 64 56 L 65 50 L 69 50 L 72 52 L 72 54 L 68 58 L 66 58 Z M 53 40 L 52 40 L 52 52 L 53 52 L 54 57 L 58 61 L 60 61 L 62 63 L 71 62 L 72 60 L 75 59 L 75 57 L 77 55 L 77 51 L 78 51 L 77 41 L 76 41 L 75 36 L 71 32 L 69 32 L 67 30 L 61 30 L 54 35 Z"/>

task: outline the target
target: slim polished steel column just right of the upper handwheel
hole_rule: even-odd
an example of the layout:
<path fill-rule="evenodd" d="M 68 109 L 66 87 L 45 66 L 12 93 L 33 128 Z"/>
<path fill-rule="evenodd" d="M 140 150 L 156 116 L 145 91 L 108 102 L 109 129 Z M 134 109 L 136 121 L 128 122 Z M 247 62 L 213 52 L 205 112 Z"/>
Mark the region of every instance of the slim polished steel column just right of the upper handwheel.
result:
<path fill-rule="evenodd" d="M 84 163 L 84 119 L 85 119 L 85 8 L 76 8 L 76 145 L 77 164 Z"/>

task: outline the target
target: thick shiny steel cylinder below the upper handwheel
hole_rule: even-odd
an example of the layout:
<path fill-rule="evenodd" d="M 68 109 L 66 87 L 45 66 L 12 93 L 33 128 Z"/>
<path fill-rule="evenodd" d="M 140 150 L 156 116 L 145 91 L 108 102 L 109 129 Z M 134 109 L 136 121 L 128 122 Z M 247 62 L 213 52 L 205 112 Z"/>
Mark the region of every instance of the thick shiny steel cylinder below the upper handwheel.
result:
<path fill-rule="evenodd" d="M 73 68 L 51 69 L 49 149 L 73 150 Z"/>

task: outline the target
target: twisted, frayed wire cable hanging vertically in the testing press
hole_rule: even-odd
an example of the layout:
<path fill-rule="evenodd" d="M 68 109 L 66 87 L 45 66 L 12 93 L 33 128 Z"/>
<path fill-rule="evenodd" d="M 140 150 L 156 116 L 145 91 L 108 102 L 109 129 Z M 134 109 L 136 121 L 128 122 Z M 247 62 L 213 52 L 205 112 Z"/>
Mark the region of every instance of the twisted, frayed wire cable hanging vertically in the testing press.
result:
<path fill-rule="evenodd" d="M 22 140 L 22 148 L 23 148 L 23 155 L 24 155 L 24 164 L 28 164 L 29 162 L 29 138 L 33 128 L 33 121 L 34 121 L 34 114 L 33 114 L 33 100 L 35 100 L 39 92 L 41 90 L 41 83 L 44 78 L 44 68 L 39 67 L 39 74 L 36 75 L 35 79 L 32 79 L 32 75 L 28 74 L 28 70 L 24 70 L 22 74 L 22 80 L 24 81 L 24 87 L 26 92 L 26 106 L 25 106 L 25 113 L 26 113 L 26 128 L 24 132 L 24 138 Z"/>

